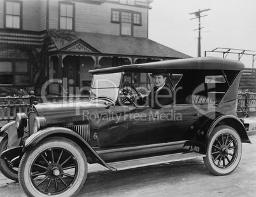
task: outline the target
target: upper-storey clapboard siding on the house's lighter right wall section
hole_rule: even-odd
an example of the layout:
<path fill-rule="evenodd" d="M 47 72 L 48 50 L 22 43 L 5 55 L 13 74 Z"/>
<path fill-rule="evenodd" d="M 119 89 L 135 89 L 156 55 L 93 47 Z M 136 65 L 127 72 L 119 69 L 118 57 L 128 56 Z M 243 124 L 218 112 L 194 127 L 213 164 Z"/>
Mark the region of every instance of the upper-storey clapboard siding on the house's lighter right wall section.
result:
<path fill-rule="evenodd" d="M 120 35 L 120 24 L 111 23 L 111 8 L 138 11 L 142 25 L 134 25 L 134 36 L 147 37 L 148 10 L 124 4 L 75 3 L 75 31 Z M 59 29 L 59 2 L 49 1 L 49 28 Z"/>

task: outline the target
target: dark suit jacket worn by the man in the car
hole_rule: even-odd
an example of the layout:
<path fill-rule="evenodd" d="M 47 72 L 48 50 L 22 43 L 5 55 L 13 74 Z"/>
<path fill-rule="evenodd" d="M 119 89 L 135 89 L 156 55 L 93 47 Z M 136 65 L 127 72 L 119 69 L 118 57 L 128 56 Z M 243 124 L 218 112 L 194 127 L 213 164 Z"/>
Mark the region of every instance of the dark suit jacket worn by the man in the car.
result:
<path fill-rule="evenodd" d="M 165 84 L 159 91 L 157 91 L 157 86 L 153 87 L 150 94 L 143 100 L 153 109 L 160 109 L 173 102 L 173 95 L 169 86 Z"/>

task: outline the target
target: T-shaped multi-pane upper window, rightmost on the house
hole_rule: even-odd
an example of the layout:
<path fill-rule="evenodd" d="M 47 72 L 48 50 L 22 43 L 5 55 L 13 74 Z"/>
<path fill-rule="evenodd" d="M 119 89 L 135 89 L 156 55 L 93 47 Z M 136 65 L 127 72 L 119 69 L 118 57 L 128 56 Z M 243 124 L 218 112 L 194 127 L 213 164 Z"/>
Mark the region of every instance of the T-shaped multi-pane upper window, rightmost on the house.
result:
<path fill-rule="evenodd" d="M 120 34 L 133 36 L 133 26 L 141 25 L 141 13 L 126 10 L 112 10 L 111 22 L 120 23 Z"/>

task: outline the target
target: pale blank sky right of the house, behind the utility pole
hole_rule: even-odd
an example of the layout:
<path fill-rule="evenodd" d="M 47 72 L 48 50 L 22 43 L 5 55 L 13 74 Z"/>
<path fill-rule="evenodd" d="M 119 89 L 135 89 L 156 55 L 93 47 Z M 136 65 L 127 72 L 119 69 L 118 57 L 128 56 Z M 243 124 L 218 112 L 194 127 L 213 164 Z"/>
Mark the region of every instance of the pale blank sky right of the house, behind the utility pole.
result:
<path fill-rule="evenodd" d="M 199 21 L 189 13 L 211 9 L 201 13 L 207 15 L 201 17 L 201 57 L 215 48 L 252 50 L 256 55 L 256 0 L 153 0 L 150 5 L 148 38 L 157 43 L 197 57 L 198 31 L 194 30 Z M 222 55 L 207 52 L 207 56 Z M 238 60 L 238 55 L 226 58 Z M 243 55 L 240 60 L 252 68 L 252 59 L 252 55 Z"/>

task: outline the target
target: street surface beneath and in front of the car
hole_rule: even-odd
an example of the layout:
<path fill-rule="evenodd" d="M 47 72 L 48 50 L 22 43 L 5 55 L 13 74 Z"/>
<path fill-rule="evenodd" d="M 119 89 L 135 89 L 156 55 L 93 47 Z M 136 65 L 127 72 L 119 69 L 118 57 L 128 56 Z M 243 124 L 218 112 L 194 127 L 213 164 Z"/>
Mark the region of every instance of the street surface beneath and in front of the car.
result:
<path fill-rule="evenodd" d="M 82 196 L 255 196 L 256 135 L 243 144 L 243 156 L 231 175 L 211 175 L 203 160 L 110 172 L 90 165 Z M 17 182 L 0 175 L 0 196 L 25 196 Z"/>

